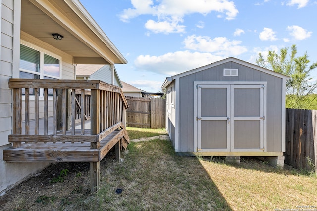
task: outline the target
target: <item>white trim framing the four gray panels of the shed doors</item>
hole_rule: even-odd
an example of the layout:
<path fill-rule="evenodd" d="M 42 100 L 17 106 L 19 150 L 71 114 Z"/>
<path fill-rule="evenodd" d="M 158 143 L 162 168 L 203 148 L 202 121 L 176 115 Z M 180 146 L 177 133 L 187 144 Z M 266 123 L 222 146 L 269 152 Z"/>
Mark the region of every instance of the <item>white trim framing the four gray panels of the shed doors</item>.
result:
<path fill-rule="evenodd" d="M 267 82 L 194 82 L 194 152 L 257 152 L 263 150 L 266 152 L 267 140 L 266 140 L 266 86 Z M 203 117 L 201 115 L 201 89 L 202 88 L 226 88 L 227 89 L 227 116 L 221 117 Z M 233 111 L 234 102 L 234 89 L 236 88 L 259 88 L 260 89 L 260 116 L 252 117 L 235 117 Z M 264 117 L 264 119 L 262 119 Z M 228 120 L 227 125 L 227 148 L 212 148 L 207 149 L 201 148 L 201 133 L 199 129 L 201 128 L 201 121 L 204 120 Z M 234 125 L 232 123 L 237 120 L 259 120 L 260 121 L 260 148 L 257 149 L 240 149 L 234 148 Z M 229 124 L 231 122 L 231 124 Z"/>

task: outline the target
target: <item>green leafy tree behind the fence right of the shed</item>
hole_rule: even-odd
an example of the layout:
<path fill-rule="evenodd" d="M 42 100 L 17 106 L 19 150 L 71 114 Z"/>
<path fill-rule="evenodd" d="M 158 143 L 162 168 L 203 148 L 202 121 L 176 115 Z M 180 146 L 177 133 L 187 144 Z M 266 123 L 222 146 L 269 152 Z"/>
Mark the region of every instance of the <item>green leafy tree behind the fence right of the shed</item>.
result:
<path fill-rule="evenodd" d="M 259 53 L 256 63 L 266 69 L 271 69 L 290 77 L 286 83 L 286 107 L 299 109 L 312 109 L 316 106 L 317 81 L 310 77 L 310 72 L 317 67 L 317 62 L 309 66 L 307 52 L 303 56 L 296 57 L 297 47 L 292 45 L 288 54 L 288 47 L 282 48 L 277 54 L 268 51 L 267 59 Z"/>

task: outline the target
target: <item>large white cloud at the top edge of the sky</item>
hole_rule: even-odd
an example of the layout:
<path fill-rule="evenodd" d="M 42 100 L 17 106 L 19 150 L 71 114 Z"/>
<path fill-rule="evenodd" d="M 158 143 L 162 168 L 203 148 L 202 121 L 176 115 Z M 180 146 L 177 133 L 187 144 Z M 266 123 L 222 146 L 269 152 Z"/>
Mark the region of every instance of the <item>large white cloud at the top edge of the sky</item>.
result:
<path fill-rule="evenodd" d="M 183 22 L 183 17 L 188 14 L 206 15 L 214 11 L 225 15 L 225 19 L 232 20 L 239 13 L 234 2 L 229 0 L 131 0 L 131 3 L 133 8 L 124 9 L 119 15 L 120 20 L 128 22 L 139 15 L 155 16 L 157 20 L 148 20 L 146 26 L 155 33 L 184 32 L 184 29 L 179 30 L 183 26 L 178 25 L 178 22 Z M 171 30 L 170 27 L 176 28 Z"/>

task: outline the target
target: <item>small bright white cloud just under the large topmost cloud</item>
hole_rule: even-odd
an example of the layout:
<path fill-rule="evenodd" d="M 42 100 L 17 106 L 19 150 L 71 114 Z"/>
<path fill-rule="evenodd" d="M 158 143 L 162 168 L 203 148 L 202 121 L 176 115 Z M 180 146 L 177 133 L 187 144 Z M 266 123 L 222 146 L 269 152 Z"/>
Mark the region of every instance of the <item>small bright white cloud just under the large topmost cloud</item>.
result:
<path fill-rule="evenodd" d="M 178 21 L 158 21 L 148 20 L 145 23 L 145 28 L 154 32 L 154 33 L 183 33 L 185 32 L 184 25 L 178 25 Z"/>

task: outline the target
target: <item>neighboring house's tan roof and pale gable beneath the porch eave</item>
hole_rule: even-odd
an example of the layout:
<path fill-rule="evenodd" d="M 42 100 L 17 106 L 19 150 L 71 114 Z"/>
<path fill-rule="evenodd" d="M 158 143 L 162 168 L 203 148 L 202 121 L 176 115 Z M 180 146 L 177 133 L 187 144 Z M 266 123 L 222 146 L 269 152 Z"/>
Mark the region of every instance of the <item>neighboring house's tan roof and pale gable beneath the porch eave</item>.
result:
<path fill-rule="evenodd" d="M 76 79 L 96 79 L 112 84 L 111 65 L 77 64 Z M 119 75 L 114 67 L 114 81 L 112 85 L 122 87 Z"/>

